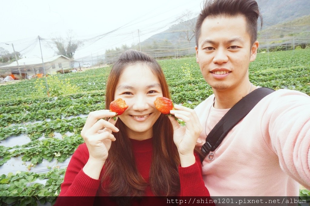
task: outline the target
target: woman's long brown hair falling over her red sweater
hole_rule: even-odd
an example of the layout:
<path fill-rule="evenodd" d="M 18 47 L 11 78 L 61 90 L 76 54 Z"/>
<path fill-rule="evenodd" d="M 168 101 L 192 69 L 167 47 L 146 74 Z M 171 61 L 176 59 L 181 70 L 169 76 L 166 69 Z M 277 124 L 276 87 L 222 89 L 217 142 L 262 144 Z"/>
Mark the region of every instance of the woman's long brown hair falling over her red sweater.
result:
<path fill-rule="evenodd" d="M 170 98 L 169 88 L 160 65 L 152 57 L 135 50 L 128 50 L 113 65 L 106 87 L 105 108 L 109 109 L 114 100 L 116 85 L 122 71 L 129 65 L 145 64 L 152 70 L 162 86 L 164 97 Z M 126 126 L 117 120 L 115 125 L 120 132 L 113 135 L 113 142 L 105 164 L 102 181 L 110 196 L 144 196 L 148 186 L 139 174 L 135 164 L 131 141 Z M 180 163 L 177 148 L 173 142 L 173 128 L 166 115 L 161 114 L 153 125 L 153 156 L 149 173 L 149 184 L 157 196 L 175 196 L 180 190 L 178 166 Z"/>

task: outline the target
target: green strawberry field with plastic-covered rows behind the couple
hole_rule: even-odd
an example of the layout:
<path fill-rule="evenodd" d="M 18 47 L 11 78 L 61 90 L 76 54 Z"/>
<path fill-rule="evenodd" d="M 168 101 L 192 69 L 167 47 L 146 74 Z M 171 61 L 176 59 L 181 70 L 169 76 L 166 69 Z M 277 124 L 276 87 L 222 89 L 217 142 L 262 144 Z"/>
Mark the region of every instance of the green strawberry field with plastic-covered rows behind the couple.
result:
<path fill-rule="evenodd" d="M 194 56 L 159 63 L 175 103 L 194 108 L 213 93 Z M 55 201 L 88 113 L 104 109 L 109 70 L 49 76 L 50 97 L 44 78 L 0 86 L 0 205 Z M 259 53 L 249 73 L 255 85 L 310 95 L 310 50 Z"/>

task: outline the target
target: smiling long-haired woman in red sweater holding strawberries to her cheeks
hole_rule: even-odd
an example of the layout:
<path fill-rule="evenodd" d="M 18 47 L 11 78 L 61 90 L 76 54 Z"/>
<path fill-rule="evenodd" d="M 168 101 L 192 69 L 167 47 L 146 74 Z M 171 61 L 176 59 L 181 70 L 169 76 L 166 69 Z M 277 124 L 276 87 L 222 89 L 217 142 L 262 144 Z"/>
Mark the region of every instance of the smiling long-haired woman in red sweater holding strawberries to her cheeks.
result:
<path fill-rule="evenodd" d="M 194 155 L 201 132 L 197 115 L 175 105 L 170 113 L 186 123 L 180 126 L 155 108 L 160 96 L 170 98 L 157 61 L 138 51 L 124 52 L 108 77 L 106 110 L 86 119 L 81 132 L 85 143 L 70 160 L 60 196 L 87 196 L 90 205 L 94 198 L 89 196 L 209 196 Z M 114 120 L 109 105 L 118 98 L 128 108 Z M 116 199 L 118 204 L 121 200 Z M 62 201 L 58 198 L 56 204 Z"/>

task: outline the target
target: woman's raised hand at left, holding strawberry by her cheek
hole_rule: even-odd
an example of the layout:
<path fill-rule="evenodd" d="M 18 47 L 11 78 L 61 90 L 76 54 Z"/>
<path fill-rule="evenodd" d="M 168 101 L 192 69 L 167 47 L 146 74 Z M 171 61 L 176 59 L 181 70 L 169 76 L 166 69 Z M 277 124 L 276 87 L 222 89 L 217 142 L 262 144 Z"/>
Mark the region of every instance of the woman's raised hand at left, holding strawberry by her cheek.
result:
<path fill-rule="evenodd" d="M 90 160 L 104 163 L 108 158 L 111 143 L 115 141 L 112 131 L 118 132 L 119 130 L 114 126 L 117 120 L 114 121 L 111 118 L 106 121 L 104 118 L 115 115 L 115 112 L 109 110 L 98 110 L 89 113 L 81 131 L 81 136 L 86 143 Z"/>

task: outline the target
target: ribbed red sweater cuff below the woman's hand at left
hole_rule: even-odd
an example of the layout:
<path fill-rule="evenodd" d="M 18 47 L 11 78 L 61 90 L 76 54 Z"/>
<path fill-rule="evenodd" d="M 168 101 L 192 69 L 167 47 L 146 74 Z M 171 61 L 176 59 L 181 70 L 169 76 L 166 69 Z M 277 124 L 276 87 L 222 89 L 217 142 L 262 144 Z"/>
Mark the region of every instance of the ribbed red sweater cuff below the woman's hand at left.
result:
<path fill-rule="evenodd" d="M 81 169 L 70 186 L 70 189 L 75 196 L 95 196 L 99 184 L 100 180 L 89 177 Z"/>

